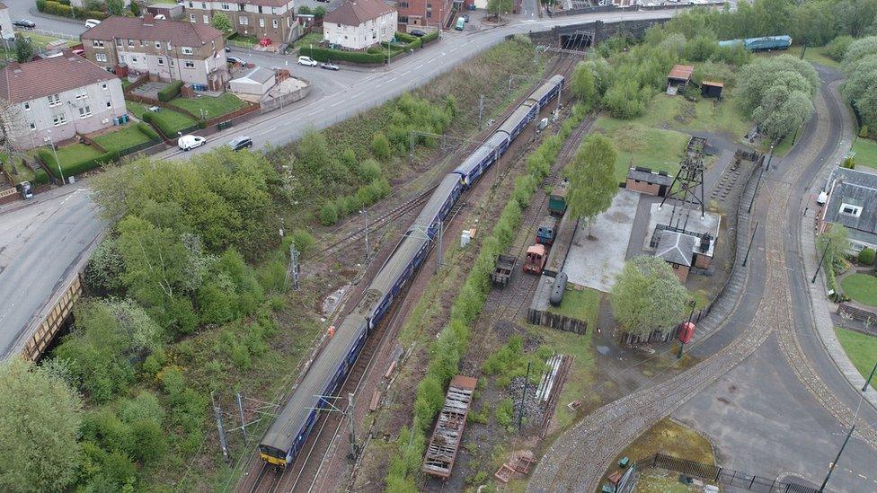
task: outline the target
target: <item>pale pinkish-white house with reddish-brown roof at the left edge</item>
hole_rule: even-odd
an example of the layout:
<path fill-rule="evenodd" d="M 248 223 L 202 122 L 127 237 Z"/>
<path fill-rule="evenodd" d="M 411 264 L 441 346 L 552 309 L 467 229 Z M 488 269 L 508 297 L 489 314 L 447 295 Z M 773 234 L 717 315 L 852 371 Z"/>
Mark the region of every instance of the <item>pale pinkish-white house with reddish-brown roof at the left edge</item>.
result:
<path fill-rule="evenodd" d="M 111 127 L 127 112 L 120 80 L 70 51 L 10 63 L 0 75 L 0 98 L 9 103 L 6 130 L 19 149 Z"/>

